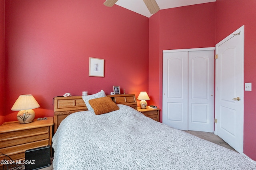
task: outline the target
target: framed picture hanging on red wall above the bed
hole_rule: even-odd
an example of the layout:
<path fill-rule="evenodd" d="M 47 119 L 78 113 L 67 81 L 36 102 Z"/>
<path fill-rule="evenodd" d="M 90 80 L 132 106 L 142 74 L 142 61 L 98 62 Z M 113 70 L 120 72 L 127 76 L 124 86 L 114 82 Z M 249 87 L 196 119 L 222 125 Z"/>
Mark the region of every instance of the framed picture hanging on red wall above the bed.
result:
<path fill-rule="evenodd" d="M 104 77 L 104 59 L 89 58 L 89 76 Z"/>

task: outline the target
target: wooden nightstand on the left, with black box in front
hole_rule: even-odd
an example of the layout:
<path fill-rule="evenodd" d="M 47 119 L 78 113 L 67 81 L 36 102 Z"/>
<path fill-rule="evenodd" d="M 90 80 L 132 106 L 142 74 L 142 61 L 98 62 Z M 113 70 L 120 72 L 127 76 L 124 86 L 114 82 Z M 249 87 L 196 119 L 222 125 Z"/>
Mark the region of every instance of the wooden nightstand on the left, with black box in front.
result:
<path fill-rule="evenodd" d="M 34 119 L 31 123 L 5 122 L 0 126 L 0 152 L 12 160 L 24 160 L 25 151 L 38 147 L 52 146 L 53 117 L 46 120 Z M 0 160 L 6 157 L 0 156 Z"/>

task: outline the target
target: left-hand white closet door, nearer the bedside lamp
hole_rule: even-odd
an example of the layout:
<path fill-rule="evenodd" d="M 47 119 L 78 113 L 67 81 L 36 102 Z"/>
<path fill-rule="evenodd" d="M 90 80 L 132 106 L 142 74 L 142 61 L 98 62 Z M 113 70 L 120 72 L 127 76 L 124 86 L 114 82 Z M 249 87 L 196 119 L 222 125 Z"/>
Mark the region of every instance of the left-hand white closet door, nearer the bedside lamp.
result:
<path fill-rule="evenodd" d="M 163 123 L 188 129 L 188 53 L 164 53 Z"/>

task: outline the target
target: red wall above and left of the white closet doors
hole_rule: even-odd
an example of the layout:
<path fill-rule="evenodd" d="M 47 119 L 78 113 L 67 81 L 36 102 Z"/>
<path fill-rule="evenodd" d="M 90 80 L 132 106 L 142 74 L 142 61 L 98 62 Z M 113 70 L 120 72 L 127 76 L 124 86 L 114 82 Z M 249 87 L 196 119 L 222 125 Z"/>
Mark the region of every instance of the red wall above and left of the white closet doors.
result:
<path fill-rule="evenodd" d="M 162 109 L 162 51 L 215 47 L 215 2 L 160 10 L 149 25 L 150 103 Z"/>

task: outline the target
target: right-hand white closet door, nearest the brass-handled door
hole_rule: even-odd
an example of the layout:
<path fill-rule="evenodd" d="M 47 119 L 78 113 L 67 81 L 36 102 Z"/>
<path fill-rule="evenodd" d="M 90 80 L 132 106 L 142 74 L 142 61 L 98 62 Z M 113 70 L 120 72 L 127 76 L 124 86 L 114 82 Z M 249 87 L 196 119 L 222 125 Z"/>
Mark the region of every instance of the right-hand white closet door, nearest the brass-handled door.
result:
<path fill-rule="evenodd" d="M 189 51 L 188 74 L 188 130 L 214 132 L 214 51 Z"/>

